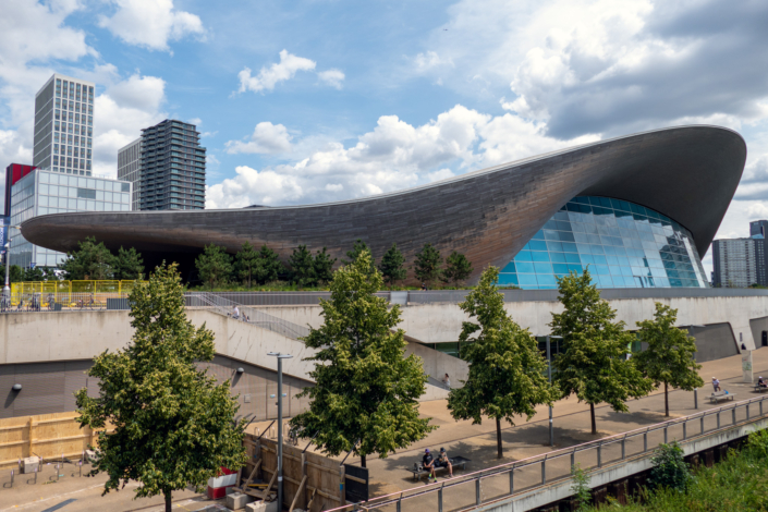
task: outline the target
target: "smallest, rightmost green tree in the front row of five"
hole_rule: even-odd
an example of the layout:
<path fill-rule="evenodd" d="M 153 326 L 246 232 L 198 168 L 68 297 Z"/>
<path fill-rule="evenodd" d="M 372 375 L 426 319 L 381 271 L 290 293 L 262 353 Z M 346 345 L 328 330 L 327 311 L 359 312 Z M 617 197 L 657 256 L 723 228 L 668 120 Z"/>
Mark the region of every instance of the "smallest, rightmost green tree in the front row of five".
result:
<path fill-rule="evenodd" d="M 669 387 L 693 391 L 704 386 L 698 376 L 702 365 L 696 364 L 695 340 L 682 329 L 674 327 L 678 310 L 656 303 L 653 320 L 637 322 L 637 341 L 648 348 L 632 358 L 643 375 L 654 385 L 665 385 L 665 416 L 669 416 Z"/>

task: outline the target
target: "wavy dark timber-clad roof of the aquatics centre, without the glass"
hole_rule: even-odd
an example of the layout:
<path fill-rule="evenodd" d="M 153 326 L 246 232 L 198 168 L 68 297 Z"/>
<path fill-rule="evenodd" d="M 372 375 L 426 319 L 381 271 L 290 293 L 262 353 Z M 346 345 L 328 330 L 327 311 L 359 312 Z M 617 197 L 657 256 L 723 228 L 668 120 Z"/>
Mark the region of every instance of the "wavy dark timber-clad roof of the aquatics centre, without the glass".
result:
<path fill-rule="evenodd" d="M 476 278 L 503 266 L 569 199 L 625 199 L 687 228 L 703 256 L 741 180 L 746 144 L 719 126 L 681 126 L 601 141 L 374 197 L 295 207 L 56 214 L 22 224 L 36 245 L 71 251 L 86 236 L 111 249 L 235 252 L 267 244 L 282 257 L 300 244 L 344 257 L 355 239 L 380 257 L 397 243 L 406 260 L 431 242 L 464 253 Z"/>

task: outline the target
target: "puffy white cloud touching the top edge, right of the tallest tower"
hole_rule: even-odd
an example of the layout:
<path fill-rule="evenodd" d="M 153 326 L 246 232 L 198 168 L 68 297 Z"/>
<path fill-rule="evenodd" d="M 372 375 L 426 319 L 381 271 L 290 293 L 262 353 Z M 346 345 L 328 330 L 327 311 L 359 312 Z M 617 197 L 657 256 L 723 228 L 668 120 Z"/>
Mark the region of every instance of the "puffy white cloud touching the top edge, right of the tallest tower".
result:
<path fill-rule="evenodd" d="M 117 12 L 112 17 L 100 16 L 99 25 L 129 45 L 166 51 L 169 40 L 205 35 L 200 19 L 174 9 L 173 0 L 110 0 L 110 3 L 117 7 Z"/>

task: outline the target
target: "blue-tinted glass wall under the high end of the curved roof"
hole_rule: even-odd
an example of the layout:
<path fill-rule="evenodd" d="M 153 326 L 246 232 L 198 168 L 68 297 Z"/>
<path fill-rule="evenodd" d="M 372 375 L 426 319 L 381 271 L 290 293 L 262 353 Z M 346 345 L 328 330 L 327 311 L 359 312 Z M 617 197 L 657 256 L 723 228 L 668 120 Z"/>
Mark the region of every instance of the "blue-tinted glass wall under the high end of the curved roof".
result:
<path fill-rule="evenodd" d="M 708 288 L 691 232 L 641 205 L 574 197 L 523 247 L 499 284 L 551 290 L 589 269 L 598 288 Z"/>

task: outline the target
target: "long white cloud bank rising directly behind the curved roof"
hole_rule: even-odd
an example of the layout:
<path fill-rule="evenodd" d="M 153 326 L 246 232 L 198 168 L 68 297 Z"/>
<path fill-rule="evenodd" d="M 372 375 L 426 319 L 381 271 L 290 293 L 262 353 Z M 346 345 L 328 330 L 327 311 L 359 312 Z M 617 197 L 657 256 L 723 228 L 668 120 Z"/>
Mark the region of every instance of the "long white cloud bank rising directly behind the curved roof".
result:
<path fill-rule="evenodd" d="M 294 163 L 264 170 L 239 167 L 237 176 L 208 188 L 206 207 L 308 204 L 381 194 L 578 142 L 547 137 L 540 126 L 514 121 L 511 114 L 493 118 L 461 105 L 419 126 L 382 115 L 352 147 L 330 143 Z"/>

